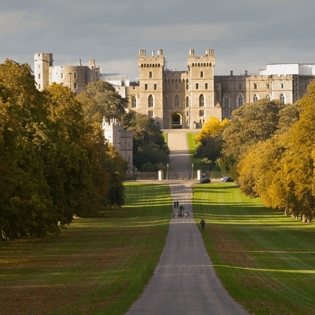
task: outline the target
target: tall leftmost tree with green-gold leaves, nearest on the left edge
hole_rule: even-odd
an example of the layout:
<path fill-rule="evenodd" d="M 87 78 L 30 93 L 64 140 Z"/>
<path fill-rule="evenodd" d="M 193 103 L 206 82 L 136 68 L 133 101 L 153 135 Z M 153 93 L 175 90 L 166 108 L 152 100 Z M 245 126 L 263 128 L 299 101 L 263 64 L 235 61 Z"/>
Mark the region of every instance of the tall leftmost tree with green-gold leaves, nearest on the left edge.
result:
<path fill-rule="evenodd" d="M 58 233 L 38 155 L 47 137 L 47 109 L 31 68 L 13 60 L 0 65 L 0 237 Z"/>

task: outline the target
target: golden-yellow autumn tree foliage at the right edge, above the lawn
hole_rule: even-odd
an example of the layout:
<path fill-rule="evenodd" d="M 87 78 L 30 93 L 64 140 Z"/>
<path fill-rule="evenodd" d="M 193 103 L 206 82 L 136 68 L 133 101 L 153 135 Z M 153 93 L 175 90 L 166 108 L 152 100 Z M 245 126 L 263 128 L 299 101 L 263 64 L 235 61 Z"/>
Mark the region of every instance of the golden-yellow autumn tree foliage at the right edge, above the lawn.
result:
<path fill-rule="evenodd" d="M 240 189 L 311 222 L 315 216 L 315 81 L 280 111 L 278 133 L 251 146 L 238 164 Z"/>

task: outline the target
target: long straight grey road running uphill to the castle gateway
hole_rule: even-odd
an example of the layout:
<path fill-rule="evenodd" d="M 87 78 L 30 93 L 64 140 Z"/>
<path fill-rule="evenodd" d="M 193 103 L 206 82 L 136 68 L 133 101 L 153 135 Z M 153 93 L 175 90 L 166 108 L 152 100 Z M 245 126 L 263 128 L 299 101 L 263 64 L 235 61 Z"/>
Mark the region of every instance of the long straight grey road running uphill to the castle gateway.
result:
<path fill-rule="evenodd" d="M 171 136 L 170 136 L 171 134 Z M 172 157 L 171 167 L 191 167 L 186 159 L 188 142 L 183 132 L 169 133 Z M 179 142 L 175 142 L 178 139 Z M 173 144 L 174 143 L 174 144 Z M 174 147 L 180 146 L 180 150 Z M 174 152 L 174 151 L 180 151 Z M 182 171 L 187 171 L 183 169 Z M 156 183 L 156 181 L 155 181 Z M 207 254 L 200 230 L 192 214 L 192 180 L 163 181 L 170 186 L 170 195 L 179 206 L 185 207 L 190 217 L 172 218 L 160 261 L 140 298 L 125 315 L 249 315 L 233 301 L 216 276 Z M 170 205 L 170 215 L 177 209 Z M 207 226 L 206 226 L 207 228 Z"/>

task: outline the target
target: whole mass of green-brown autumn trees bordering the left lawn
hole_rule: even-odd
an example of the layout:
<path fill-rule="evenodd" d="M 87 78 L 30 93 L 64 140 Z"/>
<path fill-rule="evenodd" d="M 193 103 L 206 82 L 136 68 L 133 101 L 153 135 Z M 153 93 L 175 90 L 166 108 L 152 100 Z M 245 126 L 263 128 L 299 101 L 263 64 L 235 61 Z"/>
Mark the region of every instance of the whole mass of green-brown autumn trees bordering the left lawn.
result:
<path fill-rule="evenodd" d="M 44 236 L 123 204 L 127 163 L 72 91 L 39 92 L 27 64 L 0 65 L 0 237 Z"/>

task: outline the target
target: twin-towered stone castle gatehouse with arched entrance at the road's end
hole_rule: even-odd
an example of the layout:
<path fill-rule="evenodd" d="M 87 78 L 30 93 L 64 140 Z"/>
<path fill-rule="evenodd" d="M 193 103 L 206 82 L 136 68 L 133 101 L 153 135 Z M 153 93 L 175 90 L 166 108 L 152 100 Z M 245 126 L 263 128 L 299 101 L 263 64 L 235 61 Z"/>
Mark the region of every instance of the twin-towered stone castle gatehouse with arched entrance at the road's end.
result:
<path fill-rule="evenodd" d="M 129 108 L 154 118 L 161 129 L 198 128 L 209 116 L 221 121 L 222 108 L 214 89 L 213 49 L 206 49 L 205 56 L 195 56 L 193 49 L 189 53 L 188 71 L 170 71 L 165 69 L 162 49 L 157 57 L 154 51 L 147 57 L 146 51 L 140 50 L 139 82 L 125 87 Z"/>

